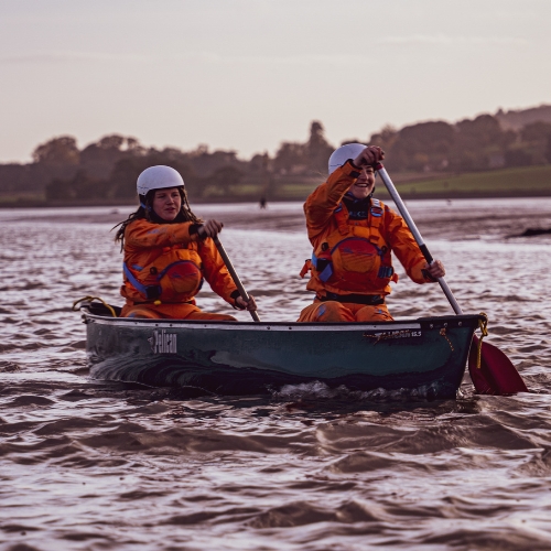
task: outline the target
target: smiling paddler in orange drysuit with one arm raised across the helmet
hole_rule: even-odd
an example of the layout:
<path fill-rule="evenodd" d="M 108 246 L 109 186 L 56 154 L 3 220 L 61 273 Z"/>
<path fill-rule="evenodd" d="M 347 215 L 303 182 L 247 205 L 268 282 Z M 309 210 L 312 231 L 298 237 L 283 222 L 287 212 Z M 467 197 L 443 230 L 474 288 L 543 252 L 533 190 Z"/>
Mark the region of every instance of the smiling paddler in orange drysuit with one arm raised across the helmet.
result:
<path fill-rule="evenodd" d="M 329 158 L 329 177 L 306 199 L 304 213 L 312 260 L 306 289 L 314 303 L 299 322 L 391 321 L 385 296 L 397 282 L 391 263 L 393 251 L 415 283 L 444 276 L 444 266 L 426 263 L 403 219 L 372 198 L 374 164 L 385 158 L 380 148 L 349 143 Z"/>

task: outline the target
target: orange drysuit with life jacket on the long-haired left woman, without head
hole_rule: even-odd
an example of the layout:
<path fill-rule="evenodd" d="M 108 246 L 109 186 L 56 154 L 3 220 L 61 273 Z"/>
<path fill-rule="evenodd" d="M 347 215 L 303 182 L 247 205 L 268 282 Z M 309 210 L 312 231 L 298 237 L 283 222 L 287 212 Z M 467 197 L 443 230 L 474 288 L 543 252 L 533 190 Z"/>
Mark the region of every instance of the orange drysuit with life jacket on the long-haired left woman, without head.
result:
<path fill-rule="evenodd" d="M 203 279 L 215 293 L 235 304 L 239 292 L 210 238 L 190 235 L 192 223 L 131 222 L 125 231 L 122 317 L 235 321 L 195 305 Z"/>

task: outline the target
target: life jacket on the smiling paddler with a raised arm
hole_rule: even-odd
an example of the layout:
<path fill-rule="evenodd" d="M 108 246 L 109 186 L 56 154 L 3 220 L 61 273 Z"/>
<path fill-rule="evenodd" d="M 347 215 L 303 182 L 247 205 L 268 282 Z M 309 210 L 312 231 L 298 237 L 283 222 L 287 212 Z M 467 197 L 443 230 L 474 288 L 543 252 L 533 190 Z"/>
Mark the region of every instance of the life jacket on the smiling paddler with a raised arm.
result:
<path fill-rule="evenodd" d="M 383 213 L 383 204 L 371 198 L 368 218 L 350 220 L 348 209 L 341 203 L 333 214 L 337 228 L 317 245 L 301 277 L 311 270 L 322 284 L 364 293 L 398 281 L 390 247 L 381 235 Z"/>

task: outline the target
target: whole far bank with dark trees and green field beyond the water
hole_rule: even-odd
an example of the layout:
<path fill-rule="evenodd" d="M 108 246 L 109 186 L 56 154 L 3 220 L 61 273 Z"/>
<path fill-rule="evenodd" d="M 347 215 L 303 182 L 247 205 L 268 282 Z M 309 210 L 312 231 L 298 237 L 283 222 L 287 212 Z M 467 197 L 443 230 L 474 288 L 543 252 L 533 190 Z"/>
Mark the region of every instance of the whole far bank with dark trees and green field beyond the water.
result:
<path fill-rule="evenodd" d="M 368 139 L 380 145 L 385 165 L 406 199 L 551 196 L 551 105 L 499 110 L 456 123 L 428 121 L 397 130 L 385 127 Z M 136 181 L 154 164 L 177 170 L 194 203 L 305 201 L 326 179 L 336 145 L 320 121 L 303 143 L 282 142 L 250 160 L 236 151 L 145 148 L 136 138 L 110 134 L 78 149 L 71 136 L 34 150 L 33 162 L 0 164 L 0 208 L 118 206 L 137 201 Z M 388 193 L 376 181 L 376 195 Z"/>

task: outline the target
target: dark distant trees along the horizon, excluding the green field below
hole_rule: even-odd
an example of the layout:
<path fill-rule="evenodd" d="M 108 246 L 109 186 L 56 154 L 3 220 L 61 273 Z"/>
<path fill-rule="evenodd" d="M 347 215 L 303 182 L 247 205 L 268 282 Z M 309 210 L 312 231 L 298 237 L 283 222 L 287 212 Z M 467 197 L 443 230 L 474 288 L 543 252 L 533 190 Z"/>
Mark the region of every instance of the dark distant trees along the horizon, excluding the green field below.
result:
<path fill-rule="evenodd" d="M 533 112 L 538 109 L 540 120 Z M 389 170 L 401 173 L 461 173 L 551 163 L 551 106 L 529 111 L 525 125 L 521 112 L 507 119 L 508 114 L 499 111 L 456 123 L 429 121 L 400 130 L 385 127 L 368 139 L 341 144 L 380 145 Z M 269 195 L 281 182 L 322 181 L 336 147 L 327 142 L 320 121 L 311 123 L 305 142 L 282 142 L 273 156 L 258 153 L 248 161 L 238 159 L 235 151 L 209 151 L 207 145 L 187 152 L 145 148 L 136 138 L 119 134 L 79 150 L 75 138 L 62 136 L 40 144 L 32 163 L 0 164 L 0 193 L 45 193 L 48 202 L 132 199 L 139 173 L 153 164 L 166 164 L 182 174 L 194 199 L 231 196 L 244 185 Z"/>

